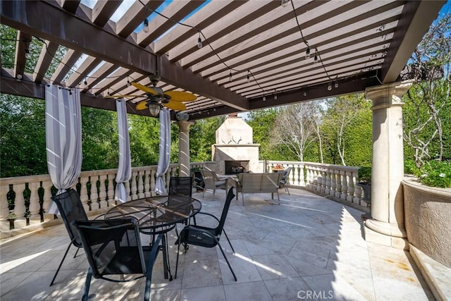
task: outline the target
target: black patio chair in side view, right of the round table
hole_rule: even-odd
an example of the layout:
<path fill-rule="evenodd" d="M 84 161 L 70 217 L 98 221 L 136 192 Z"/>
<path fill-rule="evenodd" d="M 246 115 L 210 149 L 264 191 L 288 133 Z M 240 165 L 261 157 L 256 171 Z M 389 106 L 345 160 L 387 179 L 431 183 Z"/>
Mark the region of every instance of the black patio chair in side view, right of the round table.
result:
<path fill-rule="evenodd" d="M 233 254 L 235 254 L 235 250 L 233 250 L 233 246 L 230 243 L 230 240 L 228 239 L 226 231 L 223 230 L 224 223 L 226 223 L 228 209 L 230 207 L 230 202 L 232 202 L 233 197 L 235 197 L 235 195 L 233 194 L 233 188 L 230 188 L 230 190 L 228 190 L 228 193 L 227 193 L 226 204 L 224 204 L 223 212 L 221 214 L 221 219 L 218 219 L 213 214 L 209 214 L 206 212 L 201 211 L 198 213 L 198 214 L 205 214 L 205 215 L 211 216 L 214 219 L 216 219 L 216 221 L 218 221 L 218 226 L 216 226 L 216 228 L 208 228 L 208 227 L 204 227 L 204 226 L 190 225 L 190 226 L 185 226 L 185 228 L 183 228 L 183 230 L 180 232 L 180 236 L 175 241 L 175 244 L 178 245 L 178 250 L 177 250 L 177 262 L 175 263 L 174 278 L 177 278 L 178 256 L 180 254 L 180 245 L 182 245 L 182 244 L 185 245 L 185 253 L 187 251 L 187 245 L 197 245 L 199 247 L 216 247 L 216 245 L 218 245 L 219 250 L 221 250 L 221 252 L 223 253 L 224 259 L 226 259 L 228 267 L 233 274 L 233 278 L 235 278 L 235 281 L 237 281 L 237 276 L 235 276 L 235 272 L 233 271 L 232 266 L 230 266 L 230 263 L 228 262 L 226 253 L 224 252 L 223 248 L 221 247 L 221 244 L 219 243 L 219 239 L 221 238 L 221 233 L 224 233 L 224 235 L 226 235 L 228 244 L 232 248 Z"/>

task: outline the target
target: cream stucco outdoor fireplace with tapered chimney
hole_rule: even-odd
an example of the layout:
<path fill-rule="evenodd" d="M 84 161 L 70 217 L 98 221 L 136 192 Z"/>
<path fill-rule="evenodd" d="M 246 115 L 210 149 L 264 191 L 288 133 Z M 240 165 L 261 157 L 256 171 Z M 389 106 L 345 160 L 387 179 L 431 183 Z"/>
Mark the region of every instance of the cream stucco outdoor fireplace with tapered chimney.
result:
<path fill-rule="evenodd" d="M 252 141 L 252 128 L 237 114 L 230 114 L 216 130 L 216 143 L 211 146 L 216 173 L 261 172 L 259 147 Z"/>

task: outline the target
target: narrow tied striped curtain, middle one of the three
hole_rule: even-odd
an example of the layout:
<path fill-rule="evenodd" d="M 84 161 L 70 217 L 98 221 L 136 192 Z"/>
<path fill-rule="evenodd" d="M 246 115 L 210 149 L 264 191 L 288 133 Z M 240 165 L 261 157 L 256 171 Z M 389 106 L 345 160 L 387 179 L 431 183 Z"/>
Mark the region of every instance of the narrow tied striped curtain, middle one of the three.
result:
<path fill-rule="evenodd" d="M 118 134 L 119 134 L 119 166 L 116 173 L 116 191 L 114 199 L 119 202 L 127 201 L 127 191 L 124 183 L 132 176 L 132 159 L 130 156 L 130 138 L 128 137 L 127 107 L 125 100 L 116 100 L 118 111 Z M 112 184 L 112 183 L 111 183 Z"/>

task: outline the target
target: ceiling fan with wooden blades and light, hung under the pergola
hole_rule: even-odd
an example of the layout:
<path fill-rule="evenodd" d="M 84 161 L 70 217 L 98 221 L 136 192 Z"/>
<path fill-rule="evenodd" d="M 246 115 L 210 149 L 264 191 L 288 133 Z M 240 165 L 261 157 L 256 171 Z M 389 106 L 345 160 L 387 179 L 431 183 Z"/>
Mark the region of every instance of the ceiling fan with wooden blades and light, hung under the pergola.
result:
<path fill-rule="evenodd" d="M 130 82 L 133 87 L 136 87 L 145 92 L 144 95 L 111 95 L 111 98 L 119 97 L 146 97 L 147 99 L 142 100 L 136 104 L 137 110 L 149 109 L 152 116 L 158 116 L 161 106 L 166 106 L 168 109 L 173 109 L 174 111 L 183 111 L 186 106 L 183 102 L 193 102 L 197 97 L 190 92 L 183 91 L 166 91 L 160 87 L 156 87 L 156 84 L 161 80 L 159 75 L 150 75 L 150 81 L 154 87 L 147 87 L 141 85 L 138 82 Z"/>

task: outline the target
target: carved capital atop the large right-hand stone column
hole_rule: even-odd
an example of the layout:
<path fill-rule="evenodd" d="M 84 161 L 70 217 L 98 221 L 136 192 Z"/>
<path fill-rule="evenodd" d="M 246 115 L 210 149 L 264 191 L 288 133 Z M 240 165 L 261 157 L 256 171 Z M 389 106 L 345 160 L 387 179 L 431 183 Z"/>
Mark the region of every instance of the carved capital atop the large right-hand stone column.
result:
<path fill-rule="evenodd" d="M 402 95 L 412 86 L 414 80 L 392 82 L 390 84 L 369 87 L 365 90 L 365 98 L 373 101 L 371 110 L 388 108 L 390 106 L 403 106 Z"/>

